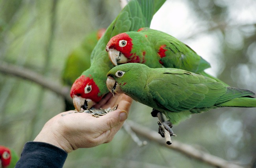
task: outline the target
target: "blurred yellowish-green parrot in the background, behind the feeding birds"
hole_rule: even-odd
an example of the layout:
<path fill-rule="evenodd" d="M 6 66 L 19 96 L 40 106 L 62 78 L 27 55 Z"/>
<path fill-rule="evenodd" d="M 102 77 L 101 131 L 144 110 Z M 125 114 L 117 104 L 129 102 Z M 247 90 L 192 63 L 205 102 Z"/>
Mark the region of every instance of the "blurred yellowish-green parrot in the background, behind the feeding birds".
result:
<path fill-rule="evenodd" d="M 90 68 L 91 52 L 98 40 L 104 35 L 105 31 L 106 29 L 102 28 L 89 33 L 84 38 L 82 44 L 69 54 L 62 73 L 62 80 L 65 85 L 72 86 L 77 77 L 79 77 L 85 69 Z"/>

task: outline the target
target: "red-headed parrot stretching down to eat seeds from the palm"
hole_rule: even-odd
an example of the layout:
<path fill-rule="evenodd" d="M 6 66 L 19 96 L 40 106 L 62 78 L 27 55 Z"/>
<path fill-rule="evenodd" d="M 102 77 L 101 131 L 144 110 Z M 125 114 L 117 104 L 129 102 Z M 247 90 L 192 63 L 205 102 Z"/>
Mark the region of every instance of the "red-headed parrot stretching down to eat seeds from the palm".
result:
<path fill-rule="evenodd" d="M 164 2 L 165 0 L 130 0 L 106 29 L 93 49 L 90 68 L 85 70 L 71 87 L 70 96 L 77 111 L 90 109 L 109 93 L 106 74 L 114 67 L 106 53 L 109 39 L 122 32 L 150 26 L 154 13 Z"/>

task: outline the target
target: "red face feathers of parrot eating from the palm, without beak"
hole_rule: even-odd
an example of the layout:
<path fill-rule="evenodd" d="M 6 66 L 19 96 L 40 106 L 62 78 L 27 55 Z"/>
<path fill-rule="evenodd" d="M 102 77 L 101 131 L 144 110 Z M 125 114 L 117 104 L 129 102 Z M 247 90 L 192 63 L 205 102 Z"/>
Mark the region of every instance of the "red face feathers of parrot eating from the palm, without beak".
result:
<path fill-rule="evenodd" d="M 85 93 L 85 87 L 90 86 L 91 91 L 89 93 Z M 81 75 L 78 79 L 73 83 L 70 96 L 73 98 L 74 95 L 83 97 L 85 99 L 91 99 L 94 102 L 100 101 L 101 97 L 98 96 L 100 93 L 100 89 L 95 84 L 92 77 L 86 77 L 85 75 Z"/>

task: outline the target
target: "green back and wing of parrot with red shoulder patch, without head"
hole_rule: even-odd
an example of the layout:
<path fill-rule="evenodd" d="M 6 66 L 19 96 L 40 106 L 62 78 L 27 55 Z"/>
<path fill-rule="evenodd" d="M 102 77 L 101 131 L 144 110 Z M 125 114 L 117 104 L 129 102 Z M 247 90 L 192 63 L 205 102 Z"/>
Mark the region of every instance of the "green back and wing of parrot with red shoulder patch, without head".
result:
<path fill-rule="evenodd" d="M 166 56 L 160 55 L 160 57 L 162 56 L 160 61 L 166 68 L 178 68 L 198 73 L 211 67 L 193 49 L 167 33 L 148 27 L 143 28 L 139 33 L 147 35 L 147 39 L 155 51 L 159 51 L 161 46 L 165 45 L 162 49 L 166 50 Z"/>

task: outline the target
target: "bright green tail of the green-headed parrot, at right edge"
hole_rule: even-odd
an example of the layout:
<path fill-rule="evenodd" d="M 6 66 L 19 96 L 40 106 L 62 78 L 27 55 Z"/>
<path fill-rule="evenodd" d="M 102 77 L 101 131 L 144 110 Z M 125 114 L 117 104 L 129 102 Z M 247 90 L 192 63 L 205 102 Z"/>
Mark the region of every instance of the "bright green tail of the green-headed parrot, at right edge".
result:
<path fill-rule="evenodd" d="M 256 107 L 256 99 L 250 97 L 239 97 L 227 102 L 217 104 L 218 107 Z"/>

